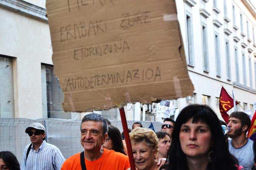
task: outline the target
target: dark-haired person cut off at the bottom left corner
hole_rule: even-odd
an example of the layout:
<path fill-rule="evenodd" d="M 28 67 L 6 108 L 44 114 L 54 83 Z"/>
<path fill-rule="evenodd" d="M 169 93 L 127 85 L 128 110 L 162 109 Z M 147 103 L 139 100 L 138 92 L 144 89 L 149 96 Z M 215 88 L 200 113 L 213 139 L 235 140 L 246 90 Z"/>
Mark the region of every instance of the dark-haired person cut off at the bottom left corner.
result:
<path fill-rule="evenodd" d="M 4 170 L 20 170 L 20 164 L 13 153 L 9 151 L 0 152 L 0 169 Z"/>

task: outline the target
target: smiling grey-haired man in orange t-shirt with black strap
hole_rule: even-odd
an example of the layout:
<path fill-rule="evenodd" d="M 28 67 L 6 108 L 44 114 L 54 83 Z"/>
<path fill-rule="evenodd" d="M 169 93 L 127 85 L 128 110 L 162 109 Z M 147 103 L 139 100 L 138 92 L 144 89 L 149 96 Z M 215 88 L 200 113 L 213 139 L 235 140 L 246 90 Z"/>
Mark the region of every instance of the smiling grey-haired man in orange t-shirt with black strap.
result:
<path fill-rule="evenodd" d="M 84 148 L 87 170 L 127 170 L 130 167 L 128 156 L 114 150 L 102 149 L 107 138 L 106 120 L 99 114 L 85 115 L 81 123 L 81 145 Z M 80 153 L 69 157 L 61 170 L 82 170 Z"/>

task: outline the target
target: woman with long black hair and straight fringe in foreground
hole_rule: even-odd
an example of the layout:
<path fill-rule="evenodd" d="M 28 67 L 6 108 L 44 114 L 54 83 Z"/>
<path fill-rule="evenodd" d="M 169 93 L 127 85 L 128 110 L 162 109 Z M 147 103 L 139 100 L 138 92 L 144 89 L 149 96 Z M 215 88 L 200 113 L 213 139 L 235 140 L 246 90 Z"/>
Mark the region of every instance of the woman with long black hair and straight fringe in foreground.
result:
<path fill-rule="evenodd" d="M 165 170 L 240 170 L 229 153 L 215 112 L 206 105 L 189 105 L 178 115 Z"/>

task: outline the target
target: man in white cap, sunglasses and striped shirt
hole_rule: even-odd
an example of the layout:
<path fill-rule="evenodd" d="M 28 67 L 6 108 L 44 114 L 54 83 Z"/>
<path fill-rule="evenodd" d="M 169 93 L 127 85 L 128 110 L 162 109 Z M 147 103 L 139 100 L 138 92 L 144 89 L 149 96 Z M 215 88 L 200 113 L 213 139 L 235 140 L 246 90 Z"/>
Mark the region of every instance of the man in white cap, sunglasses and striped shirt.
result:
<path fill-rule="evenodd" d="M 60 170 L 65 158 L 60 149 L 45 141 L 45 127 L 40 123 L 33 123 L 25 132 L 32 143 L 24 149 L 20 169 Z"/>

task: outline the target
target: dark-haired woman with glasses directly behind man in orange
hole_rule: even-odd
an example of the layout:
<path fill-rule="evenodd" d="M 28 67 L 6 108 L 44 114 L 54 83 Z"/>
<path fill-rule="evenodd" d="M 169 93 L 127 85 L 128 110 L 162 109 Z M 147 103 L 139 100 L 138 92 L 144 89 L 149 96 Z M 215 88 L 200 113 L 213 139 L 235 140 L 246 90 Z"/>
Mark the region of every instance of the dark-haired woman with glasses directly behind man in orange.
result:
<path fill-rule="evenodd" d="M 123 153 L 124 145 L 122 142 L 122 136 L 119 129 L 114 125 L 108 125 L 108 137 L 102 145 L 103 148 L 108 150 L 114 150 L 115 152 Z"/>

